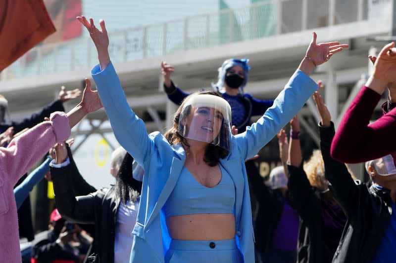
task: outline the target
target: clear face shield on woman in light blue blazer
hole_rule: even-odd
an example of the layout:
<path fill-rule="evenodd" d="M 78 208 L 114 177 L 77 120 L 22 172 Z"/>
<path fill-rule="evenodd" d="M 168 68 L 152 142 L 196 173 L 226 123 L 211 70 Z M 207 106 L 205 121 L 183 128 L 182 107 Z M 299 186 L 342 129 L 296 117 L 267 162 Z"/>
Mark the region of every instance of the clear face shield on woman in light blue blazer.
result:
<path fill-rule="evenodd" d="M 191 96 L 182 109 L 178 132 L 184 138 L 230 150 L 231 107 L 221 97 L 209 94 Z"/>

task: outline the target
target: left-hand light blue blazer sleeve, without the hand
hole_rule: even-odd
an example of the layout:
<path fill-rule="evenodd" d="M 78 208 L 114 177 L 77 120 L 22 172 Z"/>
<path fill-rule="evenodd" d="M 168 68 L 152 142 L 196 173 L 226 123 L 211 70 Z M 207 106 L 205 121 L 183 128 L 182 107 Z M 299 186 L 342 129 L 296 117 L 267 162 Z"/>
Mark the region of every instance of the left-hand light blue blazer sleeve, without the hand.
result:
<path fill-rule="evenodd" d="M 91 74 L 115 138 L 140 165 L 143 165 L 155 145 L 147 134 L 143 120 L 129 107 L 113 64 L 110 62 L 102 71 L 97 65 L 92 69 Z"/>

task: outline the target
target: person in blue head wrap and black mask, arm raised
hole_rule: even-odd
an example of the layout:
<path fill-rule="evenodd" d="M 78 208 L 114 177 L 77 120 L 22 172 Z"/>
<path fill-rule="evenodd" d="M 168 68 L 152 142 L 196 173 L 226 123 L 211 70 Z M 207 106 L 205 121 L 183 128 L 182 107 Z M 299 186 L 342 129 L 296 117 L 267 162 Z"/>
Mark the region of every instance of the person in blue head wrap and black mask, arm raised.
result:
<path fill-rule="evenodd" d="M 230 104 L 233 113 L 232 125 L 235 125 L 240 133 L 244 132 L 246 127 L 251 124 L 251 116 L 262 115 L 274 103 L 274 100 L 257 100 L 250 94 L 244 93 L 250 70 L 248 62 L 247 58 L 227 59 L 218 69 L 217 82 L 212 83 L 213 90 L 220 93 Z M 190 94 L 184 92 L 171 80 L 171 74 L 174 72 L 171 65 L 162 61 L 161 68 L 164 90 L 168 98 L 175 104 L 180 105 L 183 99 Z"/>

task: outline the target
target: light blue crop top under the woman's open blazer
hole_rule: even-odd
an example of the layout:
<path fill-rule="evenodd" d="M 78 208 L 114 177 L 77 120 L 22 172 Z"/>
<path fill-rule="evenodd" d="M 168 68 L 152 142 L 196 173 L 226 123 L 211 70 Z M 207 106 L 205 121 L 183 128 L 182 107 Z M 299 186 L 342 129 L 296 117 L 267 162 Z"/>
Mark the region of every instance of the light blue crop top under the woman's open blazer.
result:
<path fill-rule="evenodd" d="M 234 181 L 221 165 L 220 170 L 220 183 L 208 188 L 199 184 L 184 166 L 175 188 L 162 207 L 165 217 L 206 213 L 233 214 Z"/>

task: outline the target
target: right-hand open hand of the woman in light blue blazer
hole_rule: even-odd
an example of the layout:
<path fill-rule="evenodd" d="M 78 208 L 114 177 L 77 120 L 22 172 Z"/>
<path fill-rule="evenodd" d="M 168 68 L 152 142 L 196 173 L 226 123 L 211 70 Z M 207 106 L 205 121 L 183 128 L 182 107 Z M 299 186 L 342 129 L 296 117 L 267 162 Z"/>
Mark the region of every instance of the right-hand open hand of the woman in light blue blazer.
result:
<path fill-rule="evenodd" d="M 337 41 L 316 44 L 316 33 L 312 32 L 312 40 L 305 55 L 310 58 L 314 66 L 319 66 L 347 47 L 347 44 L 340 44 Z"/>

